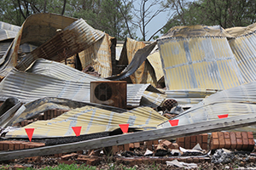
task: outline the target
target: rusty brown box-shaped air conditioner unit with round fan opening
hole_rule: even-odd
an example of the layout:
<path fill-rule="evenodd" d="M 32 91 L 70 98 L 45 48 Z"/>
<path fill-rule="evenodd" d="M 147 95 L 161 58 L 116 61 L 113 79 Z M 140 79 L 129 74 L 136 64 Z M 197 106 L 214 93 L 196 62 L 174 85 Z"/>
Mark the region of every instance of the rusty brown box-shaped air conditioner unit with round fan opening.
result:
<path fill-rule="evenodd" d="M 90 102 L 111 105 L 126 109 L 127 82 L 97 81 L 90 82 Z"/>

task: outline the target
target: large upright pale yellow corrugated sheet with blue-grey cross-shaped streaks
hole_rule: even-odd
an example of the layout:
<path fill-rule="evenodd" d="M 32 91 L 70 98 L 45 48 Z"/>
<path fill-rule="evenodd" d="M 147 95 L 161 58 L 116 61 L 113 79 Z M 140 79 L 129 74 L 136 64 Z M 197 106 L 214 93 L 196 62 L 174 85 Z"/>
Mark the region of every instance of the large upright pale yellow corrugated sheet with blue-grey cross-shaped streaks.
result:
<path fill-rule="evenodd" d="M 169 37 L 157 42 L 168 90 L 221 90 L 244 82 L 225 37 Z"/>

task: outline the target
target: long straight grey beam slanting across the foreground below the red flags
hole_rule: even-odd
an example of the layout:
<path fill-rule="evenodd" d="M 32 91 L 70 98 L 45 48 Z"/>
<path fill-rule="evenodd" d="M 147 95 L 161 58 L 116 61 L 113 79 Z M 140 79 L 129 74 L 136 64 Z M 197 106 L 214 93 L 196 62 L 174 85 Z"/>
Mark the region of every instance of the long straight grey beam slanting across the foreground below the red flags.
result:
<path fill-rule="evenodd" d="M 247 127 L 253 124 L 256 124 L 256 116 L 254 114 L 232 116 L 214 121 L 197 122 L 183 126 L 166 127 L 137 133 L 126 133 L 105 138 L 90 139 L 76 143 L 57 144 L 29 150 L 4 151 L 0 152 L 0 161 L 28 156 L 53 155 L 57 153 L 73 152 L 77 150 L 91 150 L 119 144 L 130 144 L 145 140 L 175 139 L 200 133 L 212 133 L 221 130 L 234 129 L 237 127 Z"/>

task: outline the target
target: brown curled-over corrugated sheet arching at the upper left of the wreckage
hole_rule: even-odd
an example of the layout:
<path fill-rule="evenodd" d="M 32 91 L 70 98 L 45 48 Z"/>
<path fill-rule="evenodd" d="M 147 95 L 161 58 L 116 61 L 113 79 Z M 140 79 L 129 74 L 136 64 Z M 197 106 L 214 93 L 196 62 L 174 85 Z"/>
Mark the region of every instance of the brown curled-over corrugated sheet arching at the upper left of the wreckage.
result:
<path fill-rule="evenodd" d="M 40 46 L 55 36 L 56 30 L 64 29 L 75 20 L 58 14 L 32 14 L 20 28 L 14 42 L 0 60 L 0 77 L 5 77 L 17 65 L 20 44 Z M 24 34 L 23 34 L 24 32 Z"/>

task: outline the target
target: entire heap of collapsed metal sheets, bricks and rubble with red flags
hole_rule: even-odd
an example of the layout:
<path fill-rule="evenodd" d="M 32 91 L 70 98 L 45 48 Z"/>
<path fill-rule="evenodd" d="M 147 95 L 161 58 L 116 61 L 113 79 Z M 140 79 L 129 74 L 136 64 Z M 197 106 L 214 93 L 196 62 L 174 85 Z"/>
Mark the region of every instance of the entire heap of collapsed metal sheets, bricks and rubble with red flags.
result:
<path fill-rule="evenodd" d="M 57 14 L 0 30 L 0 161 L 256 162 L 256 24 L 123 43 Z"/>

